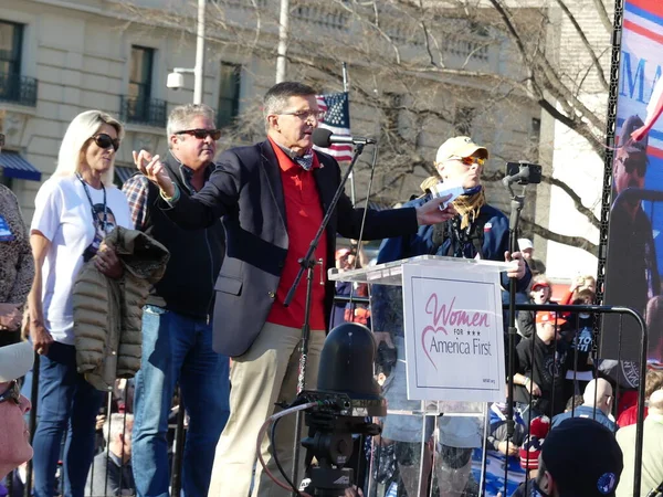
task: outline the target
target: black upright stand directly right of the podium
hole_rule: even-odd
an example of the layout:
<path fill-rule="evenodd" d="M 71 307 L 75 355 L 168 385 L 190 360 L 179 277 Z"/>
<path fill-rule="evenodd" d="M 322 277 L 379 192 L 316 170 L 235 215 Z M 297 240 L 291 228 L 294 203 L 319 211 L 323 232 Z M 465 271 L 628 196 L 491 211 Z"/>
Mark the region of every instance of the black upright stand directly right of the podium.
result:
<path fill-rule="evenodd" d="M 508 219 L 508 250 L 513 254 L 516 248 L 518 237 L 518 223 L 520 221 L 520 212 L 525 203 L 525 187 L 523 194 L 517 195 L 512 188 L 512 181 L 508 178 L 503 180 L 504 186 L 511 194 L 511 216 Z M 527 264 L 527 263 L 526 263 Z M 514 420 L 514 373 L 516 369 L 516 284 L 517 279 L 511 277 L 508 281 L 508 383 L 507 383 L 507 414 L 506 414 L 506 450 L 508 451 L 509 442 L 513 442 L 516 430 Z M 508 456 L 507 456 L 508 458 Z M 508 475 L 508 464 L 504 466 L 504 495 L 506 495 L 506 482 Z"/>

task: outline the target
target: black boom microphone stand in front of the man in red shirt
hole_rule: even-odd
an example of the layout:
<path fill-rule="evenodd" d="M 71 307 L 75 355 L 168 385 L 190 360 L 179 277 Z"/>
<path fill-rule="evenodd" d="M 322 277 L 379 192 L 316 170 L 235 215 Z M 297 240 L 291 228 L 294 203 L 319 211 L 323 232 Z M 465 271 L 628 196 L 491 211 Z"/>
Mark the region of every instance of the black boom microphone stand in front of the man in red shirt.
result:
<path fill-rule="evenodd" d="M 332 219 L 332 213 L 336 210 L 338 200 L 340 199 L 340 195 L 344 193 L 345 184 L 346 184 L 348 178 L 350 177 L 350 175 L 352 173 L 355 163 L 357 162 L 357 159 L 364 151 L 365 146 L 366 146 L 366 142 L 356 142 L 355 144 L 355 154 L 352 156 L 352 160 L 350 161 L 350 165 L 348 166 L 348 170 L 341 178 L 340 183 L 338 184 L 338 188 L 336 189 L 336 193 L 334 194 L 334 198 L 332 199 L 332 202 L 329 203 L 329 207 L 327 208 L 327 212 L 325 213 L 325 218 L 323 219 L 320 228 L 318 228 L 317 233 L 311 241 L 311 245 L 308 245 L 308 251 L 306 252 L 306 255 L 304 255 L 304 257 L 298 261 L 299 262 L 299 271 L 297 272 L 297 276 L 295 277 L 295 281 L 293 282 L 293 285 L 291 286 L 290 290 L 287 292 L 287 295 L 283 303 L 283 305 L 285 307 L 287 307 L 293 302 L 297 286 L 299 286 L 299 282 L 302 281 L 302 277 L 304 277 L 304 273 L 306 273 L 306 303 L 305 303 L 305 307 L 304 307 L 304 324 L 302 326 L 302 341 L 301 341 L 301 346 L 299 346 L 299 371 L 298 371 L 298 377 L 297 377 L 297 395 L 299 393 L 302 393 L 302 391 L 306 388 L 306 364 L 308 362 L 308 340 L 311 337 L 309 322 L 311 322 L 311 299 L 312 299 L 312 292 L 313 292 L 313 273 L 314 273 L 314 268 L 315 268 L 316 264 L 320 264 L 320 265 L 323 264 L 322 261 L 319 261 L 319 262 L 315 261 L 315 258 L 314 258 L 315 250 L 317 248 L 317 246 L 320 242 L 320 239 L 323 237 L 323 234 L 325 233 L 325 229 L 327 228 L 327 224 L 329 224 L 329 220 Z M 320 267 L 320 272 L 323 272 L 323 278 L 322 278 L 323 282 L 325 279 L 324 271 L 325 271 L 325 268 Z M 294 485 L 297 485 L 297 473 L 298 473 L 297 466 L 299 463 L 299 431 L 302 429 L 302 415 L 303 415 L 302 411 L 297 412 L 296 421 L 295 421 L 295 443 L 293 446 L 293 469 L 292 469 L 292 479 L 291 479 L 291 482 L 293 482 Z M 299 493 L 293 488 L 292 495 L 295 497 Z"/>

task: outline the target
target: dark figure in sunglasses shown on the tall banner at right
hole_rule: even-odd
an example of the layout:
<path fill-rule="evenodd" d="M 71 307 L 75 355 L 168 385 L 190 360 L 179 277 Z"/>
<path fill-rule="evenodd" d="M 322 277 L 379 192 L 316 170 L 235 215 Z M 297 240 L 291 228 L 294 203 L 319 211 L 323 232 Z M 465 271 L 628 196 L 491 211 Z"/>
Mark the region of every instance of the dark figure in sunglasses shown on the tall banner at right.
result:
<path fill-rule="evenodd" d="M 629 117 L 622 125 L 620 146 L 617 150 L 613 172 L 613 203 L 610 210 L 608 258 L 606 263 L 606 304 L 632 307 L 644 313 L 646 303 L 661 293 L 652 223 L 642 209 L 639 190 L 644 188 L 648 167 L 648 137 L 633 141 L 631 133 L 643 126 L 639 116 Z M 633 321 L 633 322 L 631 322 Z M 610 351 L 617 357 L 615 319 L 604 321 L 609 340 L 614 343 Z M 614 335 L 612 334 L 614 331 Z M 621 358 L 636 360 L 640 331 L 634 320 L 624 320 Z M 636 338 L 635 338 L 636 337 Z"/>

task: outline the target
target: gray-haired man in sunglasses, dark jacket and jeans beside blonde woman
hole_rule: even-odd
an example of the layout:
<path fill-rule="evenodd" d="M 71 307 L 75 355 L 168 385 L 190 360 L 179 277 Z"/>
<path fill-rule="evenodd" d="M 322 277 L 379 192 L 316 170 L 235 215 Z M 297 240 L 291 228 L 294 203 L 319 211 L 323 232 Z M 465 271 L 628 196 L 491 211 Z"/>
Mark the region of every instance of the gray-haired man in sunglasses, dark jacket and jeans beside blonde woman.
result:
<path fill-rule="evenodd" d="M 214 113 L 207 105 L 172 109 L 167 125 L 170 181 L 187 194 L 200 191 L 214 169 Z M 134 152 L 136 163 L 146 157 Z M 147 155 L 149 157 L 149 155 Z M 150 157 L 151 158 L 151 157 Z M 166 274 L 143 314 L 143 360 L 136 376 L 133 469 L 137 494 L 167 496 L 168 414 L 179 381 L 189 429 L 183 457 L 186 496 L 208 494 L 217 442 L 229 415 L 229 359 L 212 350 L 214 279 L 223 261 L 224 234 L 215 219 L 186 231 L 156 207 L 159 189 L 143 175 L 123 187 L 136 230 L 170 252 Z"/>

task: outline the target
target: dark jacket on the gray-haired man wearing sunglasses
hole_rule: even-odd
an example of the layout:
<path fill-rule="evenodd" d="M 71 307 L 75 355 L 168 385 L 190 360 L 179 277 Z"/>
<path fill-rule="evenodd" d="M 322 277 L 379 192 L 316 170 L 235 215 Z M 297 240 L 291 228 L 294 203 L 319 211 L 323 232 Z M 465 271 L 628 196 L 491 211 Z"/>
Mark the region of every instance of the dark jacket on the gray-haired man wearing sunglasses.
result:
<path fill-rule="evenodd" d="M 165 166 L 170 179 L 181 191 L 193 192 L 187 169 L 172 157 Z M 213 165 L 208 166 L 206 179 L 209 179 L 213 169 Z M 208 318 L 213 310 L 214 281 L 225 252 L 221 220 L 215 219 L 209 226 L 194 231 L 181 229 L 164 211 L 154 208 L 159 189 L 147 179 L 145 181 L 149 190 L 144 230 L 170 252 L 166 274 L 155 286 L 147 303 L 194 318 Z"/>

